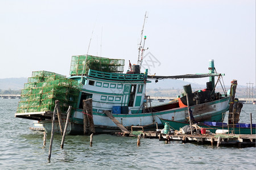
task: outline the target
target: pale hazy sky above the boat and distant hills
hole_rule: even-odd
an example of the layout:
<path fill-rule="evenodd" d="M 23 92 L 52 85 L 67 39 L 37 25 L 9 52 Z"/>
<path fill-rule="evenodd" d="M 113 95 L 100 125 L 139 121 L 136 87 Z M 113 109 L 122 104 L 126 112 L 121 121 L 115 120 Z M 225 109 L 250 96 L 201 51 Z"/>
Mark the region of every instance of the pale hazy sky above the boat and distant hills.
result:
<path fill-rule="evenodd" d="M 208 73 L 214 59 L 225 85 L 255 86 L 255 0 L 0 0 L 0 78 L 68 76 L 71 56 L 86 54 L 91 36 L 89 54 L 123 58 L 127 70 L 129 59 L 137 63 L 146 11 L 143 67 L 151 74 Z"/>

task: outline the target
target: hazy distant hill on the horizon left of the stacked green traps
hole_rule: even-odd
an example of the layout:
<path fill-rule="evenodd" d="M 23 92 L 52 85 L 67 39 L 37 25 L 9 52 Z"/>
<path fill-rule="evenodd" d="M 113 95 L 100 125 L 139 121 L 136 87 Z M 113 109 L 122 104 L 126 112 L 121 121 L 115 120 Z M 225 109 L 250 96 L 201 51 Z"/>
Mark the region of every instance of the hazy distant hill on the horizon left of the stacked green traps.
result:
<path fill-rule="evenodd" d="M 0 90 L 21 90 L 27 83 L 27 78 L 6 78 L 0 79 Z"/>

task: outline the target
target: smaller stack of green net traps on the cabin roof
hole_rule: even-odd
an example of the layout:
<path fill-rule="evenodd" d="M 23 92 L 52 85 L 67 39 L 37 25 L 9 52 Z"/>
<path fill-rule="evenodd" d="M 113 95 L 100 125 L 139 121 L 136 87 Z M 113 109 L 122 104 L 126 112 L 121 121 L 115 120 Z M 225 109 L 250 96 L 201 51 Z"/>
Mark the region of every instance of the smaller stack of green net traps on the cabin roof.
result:
<path fill-rule="evenodd" d="M 108 73 L 123 73 L 124 59 L 110 59 L 96 56 L 72 56 L 70 75 L 88 74 L 89 69 Z"/>

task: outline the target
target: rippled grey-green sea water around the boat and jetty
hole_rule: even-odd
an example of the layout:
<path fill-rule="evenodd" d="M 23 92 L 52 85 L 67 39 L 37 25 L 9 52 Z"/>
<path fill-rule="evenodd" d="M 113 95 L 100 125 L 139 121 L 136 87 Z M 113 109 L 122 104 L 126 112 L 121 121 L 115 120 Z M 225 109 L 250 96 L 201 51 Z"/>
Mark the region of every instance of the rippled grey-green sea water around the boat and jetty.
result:
<path fill-rule="evenodd" d="M 15 118 L 19 99 L 0 99 L 0 169 L 255 169 L 256 149 L 182 144 L 164 144 L 158 139 L 94 135 L 68 135 L 64 149 L 55 135 L 51 162 L 49 140 L 43 148 L 43 133 L 31 131 L 31 120 Z M 256 105 L 244 105 L 241 122 L 253 122 Z"/>

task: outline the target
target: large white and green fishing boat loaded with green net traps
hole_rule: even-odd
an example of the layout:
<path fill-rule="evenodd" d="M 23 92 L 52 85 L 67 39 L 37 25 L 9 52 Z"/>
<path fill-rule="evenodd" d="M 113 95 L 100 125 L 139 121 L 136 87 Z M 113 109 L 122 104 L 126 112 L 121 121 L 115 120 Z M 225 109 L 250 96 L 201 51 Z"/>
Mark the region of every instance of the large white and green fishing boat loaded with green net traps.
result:
<path fill-rule="evenodd" d="M 68 133 L 81 134 L 84 124 L 82 101 L 86 99 L 92 99 L 96 133 L 120 131 L 104 111 L 111 112 L 126 128 L 155 129 L 155 123 L 162 125 L 159 118 L 187 121 L 186 95 L 196 121 L 219 122 L 224 118 L 222 113 L 228 111 L 229 96 L 214 91 L 214 76 L 220 78 L 221 74 L 214 73 L 213 60 L 210 60 L 208 74 L 177 76 L 150 76 L 147 69 L 141 73 L 140 65 L 130 66 L 130 70 L 123 73 L 124 63 L 124 59 L 72 56 L 69 78 L 49 71 L 34 71 L 24 84 L 15 117 L 38 120 L 49 131 L 55 100 L 59 100 L 64 117 L 68 106 L 72 106 Z M 188 86 L 184 96 L 170 103 L 151 106 L 146 94 L 150 79 L 203 77 L 210 78 L 205 90 L 192 92 Z"/>

